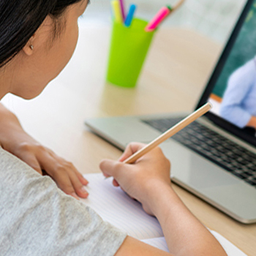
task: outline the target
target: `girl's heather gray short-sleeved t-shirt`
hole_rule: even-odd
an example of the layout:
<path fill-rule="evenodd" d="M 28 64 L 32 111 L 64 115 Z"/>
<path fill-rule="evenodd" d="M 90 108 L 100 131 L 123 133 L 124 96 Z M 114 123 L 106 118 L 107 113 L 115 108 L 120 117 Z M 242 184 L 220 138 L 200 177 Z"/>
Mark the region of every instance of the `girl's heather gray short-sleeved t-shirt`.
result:
<path fill-rule="evenodd" d="M 0 147 L 0 255 L 115 255 L 126 238 Z"/>

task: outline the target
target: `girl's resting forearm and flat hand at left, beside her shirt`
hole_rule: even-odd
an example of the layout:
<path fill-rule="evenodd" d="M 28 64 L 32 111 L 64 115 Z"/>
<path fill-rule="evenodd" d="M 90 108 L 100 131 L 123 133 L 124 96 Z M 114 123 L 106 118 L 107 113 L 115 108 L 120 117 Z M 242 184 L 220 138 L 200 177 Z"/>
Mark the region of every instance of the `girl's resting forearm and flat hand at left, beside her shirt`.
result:
<path fill-rule="evenodd" d="M 20 126 L 18 118 L 0 104 L 0 145 L 41 175 L 48 175 L 67 195 L 88 197 L 88 184 L 71 162 L 37 143 Z M 79 196 L 79 197 L 78 197 Z"/>

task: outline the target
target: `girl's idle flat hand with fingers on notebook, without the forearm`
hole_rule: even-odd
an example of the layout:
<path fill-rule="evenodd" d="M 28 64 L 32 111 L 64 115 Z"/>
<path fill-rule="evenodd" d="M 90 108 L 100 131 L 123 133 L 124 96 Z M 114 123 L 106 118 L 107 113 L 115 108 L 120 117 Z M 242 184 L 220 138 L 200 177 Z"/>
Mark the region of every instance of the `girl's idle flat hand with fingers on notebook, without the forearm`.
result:
<path fill-rule="evenodd" d="M 19 136 L 12 138 L 15 142 L 10 143 L 14 145 L 9 150 L 11 154 L 26 162 L 41 175 L 47 174 L 52 177 L 67 194 L 74 197 L 88 196 L 83 187 L 88 184 L 88 181 L 83 178 L 74 165 L 58 157 L 53 151 L 40 145 L 26 133 L 22 132 Z"/>

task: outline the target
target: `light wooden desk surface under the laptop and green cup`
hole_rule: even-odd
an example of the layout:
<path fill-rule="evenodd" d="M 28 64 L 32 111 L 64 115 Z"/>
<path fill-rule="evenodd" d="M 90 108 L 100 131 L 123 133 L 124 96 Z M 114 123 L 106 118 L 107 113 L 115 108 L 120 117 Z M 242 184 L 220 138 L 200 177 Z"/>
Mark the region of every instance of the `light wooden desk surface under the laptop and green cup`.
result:
<path fill-rule="evenodd" d="M 99 172 L 102 158 L 121 151 L 83 127 L 86 118 L 192 110 L 221 47 L 184 29 L 159 31 L 137 89 L 105 85 L 110 29 L 81 24 L 78 48 L 64 72 L 37 99 L 7 96 L 5 105 L 39 142 L 72 161 L 82 173 Z M 195 216 L 255 255 L 256 225 L 241 225 L 189 192 L 174 186 Z"/>

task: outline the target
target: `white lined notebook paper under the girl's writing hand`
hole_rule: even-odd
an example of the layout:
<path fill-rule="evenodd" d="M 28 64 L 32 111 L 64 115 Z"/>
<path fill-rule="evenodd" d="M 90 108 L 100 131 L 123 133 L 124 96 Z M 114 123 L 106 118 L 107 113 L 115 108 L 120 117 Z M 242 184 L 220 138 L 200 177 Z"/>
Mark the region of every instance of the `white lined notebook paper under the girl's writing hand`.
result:
<path fill-rule="evenodd" d="M 102 173 L 87 174 L 84 177 L 89 181 L 86 189 L 90 194 L 87 199 L 81 199 L 86 206 L 93 208 L 104 221 L 129 236 L 169 252 L 157 219 L 146 214 L 140 203 L 132 200 L 119 187 L 113 187 L 112 178 L 106 180 Z M 211 233 L 222 244 L 228 256 L 246 256 L 219 233 Z"/>

